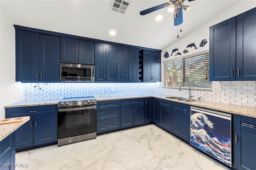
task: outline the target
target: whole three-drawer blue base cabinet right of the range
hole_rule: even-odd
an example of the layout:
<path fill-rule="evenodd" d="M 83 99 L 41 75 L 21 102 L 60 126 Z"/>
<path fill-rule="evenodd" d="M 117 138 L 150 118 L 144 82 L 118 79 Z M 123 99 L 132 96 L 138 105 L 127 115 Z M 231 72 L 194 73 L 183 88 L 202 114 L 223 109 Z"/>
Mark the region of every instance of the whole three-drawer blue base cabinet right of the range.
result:
<path fill-rule="evenodd" d="M 97 134 L 120 129 L 120 100 L 97 102 Z"/>

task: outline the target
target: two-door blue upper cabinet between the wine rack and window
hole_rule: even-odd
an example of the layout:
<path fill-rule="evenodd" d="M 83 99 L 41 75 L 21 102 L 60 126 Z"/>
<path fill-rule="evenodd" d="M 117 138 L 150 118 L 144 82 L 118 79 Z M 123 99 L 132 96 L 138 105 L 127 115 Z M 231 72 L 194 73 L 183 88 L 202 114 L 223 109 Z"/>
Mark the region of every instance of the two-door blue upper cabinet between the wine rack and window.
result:
<path fill-rule="evenodd" d="M 160 82 L 160 52 L 143 51 L 143 81 Z"/>

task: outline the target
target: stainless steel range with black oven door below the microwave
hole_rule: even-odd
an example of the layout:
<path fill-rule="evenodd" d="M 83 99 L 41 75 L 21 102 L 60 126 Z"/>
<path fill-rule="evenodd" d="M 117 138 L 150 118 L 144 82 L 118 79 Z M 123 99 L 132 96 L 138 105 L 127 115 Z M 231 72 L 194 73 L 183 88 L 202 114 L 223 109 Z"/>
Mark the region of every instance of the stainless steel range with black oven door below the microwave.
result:
<path fill-rule="evenodd" d="M 58 146 L 96 138 L 96 99 L 64 98 L 58 102 Z"/>

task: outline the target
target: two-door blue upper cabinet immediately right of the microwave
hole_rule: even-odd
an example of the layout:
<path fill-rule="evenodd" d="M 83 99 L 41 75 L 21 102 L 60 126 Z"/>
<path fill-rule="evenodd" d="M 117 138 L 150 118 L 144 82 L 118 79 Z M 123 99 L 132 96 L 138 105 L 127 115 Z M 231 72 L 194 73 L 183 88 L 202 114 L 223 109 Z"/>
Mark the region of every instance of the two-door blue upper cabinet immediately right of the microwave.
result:
<path fill-rule="evenodd" d="M 116 81 L 116 46 L 95 43 L 95 81 Z"/>

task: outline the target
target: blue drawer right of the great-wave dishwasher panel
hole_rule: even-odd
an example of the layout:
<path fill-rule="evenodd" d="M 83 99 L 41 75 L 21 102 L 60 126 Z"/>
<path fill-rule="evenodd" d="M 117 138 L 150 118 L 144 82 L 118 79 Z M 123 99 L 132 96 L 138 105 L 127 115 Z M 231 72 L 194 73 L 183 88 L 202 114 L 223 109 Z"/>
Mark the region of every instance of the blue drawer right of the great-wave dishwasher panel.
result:
<path fill-rule="evenodd" d="M 256 135 L 256 119 L 252 117 L 241 116 L 241 131 Z"/>

